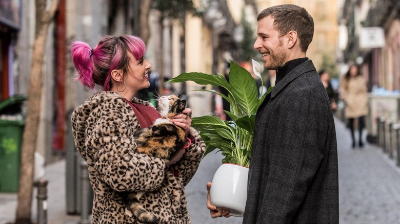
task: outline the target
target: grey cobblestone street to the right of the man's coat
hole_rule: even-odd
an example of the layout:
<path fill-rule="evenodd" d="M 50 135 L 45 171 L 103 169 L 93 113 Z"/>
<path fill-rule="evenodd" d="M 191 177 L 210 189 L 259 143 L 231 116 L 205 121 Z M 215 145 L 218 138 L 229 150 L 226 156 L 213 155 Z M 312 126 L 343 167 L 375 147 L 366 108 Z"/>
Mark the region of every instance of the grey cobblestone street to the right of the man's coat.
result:
<path fill-rule="evenodd" d="M 395 160 L 376 145 L 352 149 L 350 132 L 338 120 L 336 131 L 340 223 L 400 223 L 400 168 Z"/>

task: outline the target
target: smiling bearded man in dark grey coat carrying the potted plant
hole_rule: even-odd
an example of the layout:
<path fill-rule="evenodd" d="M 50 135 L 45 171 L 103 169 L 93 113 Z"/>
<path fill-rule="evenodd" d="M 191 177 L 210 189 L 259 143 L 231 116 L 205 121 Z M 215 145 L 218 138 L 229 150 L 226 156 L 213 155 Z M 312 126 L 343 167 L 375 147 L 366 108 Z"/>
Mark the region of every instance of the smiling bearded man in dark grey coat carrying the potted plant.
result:
<path fill-rule="evenodd" d="M 335 125 L 306 57 L 313 19 L 302 7 L 279 5 L 257 20 L 254 49 L 276 82 L 256 115 L 243 223 L 338 223 Z M 229 216 L 208 208 L 211 217 Z"/>

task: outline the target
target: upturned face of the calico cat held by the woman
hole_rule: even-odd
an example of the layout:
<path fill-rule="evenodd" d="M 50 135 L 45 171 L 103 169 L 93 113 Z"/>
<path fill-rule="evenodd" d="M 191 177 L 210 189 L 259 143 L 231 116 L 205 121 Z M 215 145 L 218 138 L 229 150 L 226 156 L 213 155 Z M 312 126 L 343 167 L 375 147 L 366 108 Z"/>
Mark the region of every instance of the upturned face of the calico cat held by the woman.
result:
<path fill-rule="evenodd" d="M 166 118 L 181 114 L 185 106 L 186 100 L 181 100 L 175 95 L 162 96 L 158 99 L 158 111 Z"/>

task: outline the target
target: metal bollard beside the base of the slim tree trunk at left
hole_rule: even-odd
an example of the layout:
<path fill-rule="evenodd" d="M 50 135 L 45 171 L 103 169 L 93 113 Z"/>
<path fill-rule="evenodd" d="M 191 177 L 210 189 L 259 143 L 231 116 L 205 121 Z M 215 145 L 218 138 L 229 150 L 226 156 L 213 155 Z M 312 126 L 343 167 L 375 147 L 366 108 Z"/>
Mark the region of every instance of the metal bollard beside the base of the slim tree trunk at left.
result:
<path fill-rule="evenodd" d="M 47 184 L 49 182 L 43 178 L 35 182 L 37 187 L 37 224 L 47 223 Z"/>

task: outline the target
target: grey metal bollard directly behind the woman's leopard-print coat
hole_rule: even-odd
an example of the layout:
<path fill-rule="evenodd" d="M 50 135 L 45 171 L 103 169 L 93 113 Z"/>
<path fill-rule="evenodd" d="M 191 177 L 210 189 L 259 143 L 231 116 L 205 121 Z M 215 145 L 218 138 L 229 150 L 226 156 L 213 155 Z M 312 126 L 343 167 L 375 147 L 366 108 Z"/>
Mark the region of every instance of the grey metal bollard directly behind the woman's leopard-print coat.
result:
<path fill-rule="evenodd" d="M 86 161 L 82 161 L 79 164 L 81 167 L 81 190 L 82 190 L 82 206 L 81 206 L 81 220 L 79 224 L 90 224 L 89 218 L 89 173 L 88 164 Z"/>

